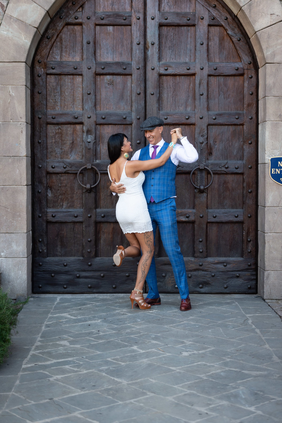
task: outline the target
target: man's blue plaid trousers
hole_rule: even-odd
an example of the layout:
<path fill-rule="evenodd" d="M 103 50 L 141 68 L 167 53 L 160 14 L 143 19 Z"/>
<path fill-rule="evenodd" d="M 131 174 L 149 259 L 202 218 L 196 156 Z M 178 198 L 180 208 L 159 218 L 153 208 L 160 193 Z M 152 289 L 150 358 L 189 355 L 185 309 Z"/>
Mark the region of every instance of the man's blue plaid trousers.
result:
<path fill-rule="evenodd" d="M 163 247 L 171 262 L 174 279 L 178 286 L 180 297 L 181 299 L 187 298 L 189 295 L 189 289 L 183 255 L 180 252 L 178 241 L 176 204 L 174 198 L 167 198 L 159 203 L 150 202 L 148 204 L 148 210 L 152 220 L 154 239 L 158 226 Z M 160 295 L 157 285 L 155 256 L 152 259 L 152 264 L 146 277 L 146 281 L 149 286 L 147 297 L 158 298 Z"/>

